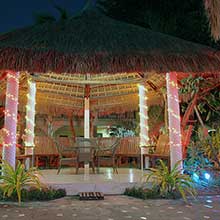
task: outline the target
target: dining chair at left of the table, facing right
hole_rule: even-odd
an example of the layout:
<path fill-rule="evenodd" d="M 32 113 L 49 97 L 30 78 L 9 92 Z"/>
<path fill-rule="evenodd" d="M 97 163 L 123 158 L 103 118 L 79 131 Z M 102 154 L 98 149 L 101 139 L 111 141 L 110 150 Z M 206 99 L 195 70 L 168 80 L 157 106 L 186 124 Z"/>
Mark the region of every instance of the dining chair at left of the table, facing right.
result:
<path fill-rule="evenodd" d="M 72 147 L 64 147 L 57 139 L 54 140 L 54 143 L 59 154 L 59 166 L 57 174 L 60 173 L 62 165 L 73 164 L 76 164 L 76 173 L 78 173 L 78 150 Z"/>

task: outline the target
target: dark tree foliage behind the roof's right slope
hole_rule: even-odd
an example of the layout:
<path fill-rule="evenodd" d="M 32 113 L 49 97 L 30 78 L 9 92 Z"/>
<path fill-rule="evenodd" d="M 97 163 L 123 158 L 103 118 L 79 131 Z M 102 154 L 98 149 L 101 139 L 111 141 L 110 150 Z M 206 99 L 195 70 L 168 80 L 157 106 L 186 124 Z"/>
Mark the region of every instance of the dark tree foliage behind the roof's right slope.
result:
<path fill-rule="evenodd" d="M 201 0 L 97 0 L 97 7 L 121 21 L 218 47 Z"/>

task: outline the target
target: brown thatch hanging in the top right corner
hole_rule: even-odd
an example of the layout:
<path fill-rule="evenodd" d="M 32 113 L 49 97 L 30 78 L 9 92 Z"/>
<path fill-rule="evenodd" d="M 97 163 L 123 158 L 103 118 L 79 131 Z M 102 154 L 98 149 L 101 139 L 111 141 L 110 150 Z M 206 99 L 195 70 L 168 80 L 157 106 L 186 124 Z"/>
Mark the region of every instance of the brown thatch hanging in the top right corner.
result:
<path fill-rule="evenodd" d="M 212 36 L 217 41 L 220 39 L 220 1 L 204 0 L 204 3 Z"/>

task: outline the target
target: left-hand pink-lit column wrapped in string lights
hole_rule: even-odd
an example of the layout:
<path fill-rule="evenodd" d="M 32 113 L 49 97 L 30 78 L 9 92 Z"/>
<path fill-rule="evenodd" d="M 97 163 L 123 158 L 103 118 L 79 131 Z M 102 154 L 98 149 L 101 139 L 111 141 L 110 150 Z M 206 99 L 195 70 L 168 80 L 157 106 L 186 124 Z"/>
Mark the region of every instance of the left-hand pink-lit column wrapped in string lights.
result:
<path fill-rule="evenodd" d="M 18 112 L 19 72 L 7 73 L 7 88 L 5 102 L 5 125 L 2 159 L 13 168 L 16 161 L 16 132 Z"/>

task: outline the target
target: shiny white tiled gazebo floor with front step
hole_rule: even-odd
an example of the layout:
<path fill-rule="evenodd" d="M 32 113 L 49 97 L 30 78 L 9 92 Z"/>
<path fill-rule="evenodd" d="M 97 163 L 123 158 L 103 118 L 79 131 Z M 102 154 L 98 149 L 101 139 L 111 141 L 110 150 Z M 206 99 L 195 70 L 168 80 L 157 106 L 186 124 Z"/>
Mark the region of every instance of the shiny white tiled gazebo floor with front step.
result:
<path fill-rule="evenodd" d="M 113 174 L 112 168 L 101 168 L 100 174 L 84 174 L 83 169 L 75 174 L 74 168 L 57 170 L 42 170 L 41 181 L 54 188 L 65 188 L 68 195 L 79 192 L 103 192 L 104 194 L 122 194 L 127 187 L 144 184 L 144 175 L 139 169 L 118 169 L 118 174 Z"/>

